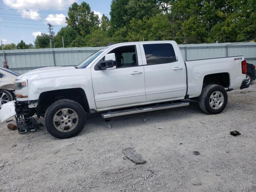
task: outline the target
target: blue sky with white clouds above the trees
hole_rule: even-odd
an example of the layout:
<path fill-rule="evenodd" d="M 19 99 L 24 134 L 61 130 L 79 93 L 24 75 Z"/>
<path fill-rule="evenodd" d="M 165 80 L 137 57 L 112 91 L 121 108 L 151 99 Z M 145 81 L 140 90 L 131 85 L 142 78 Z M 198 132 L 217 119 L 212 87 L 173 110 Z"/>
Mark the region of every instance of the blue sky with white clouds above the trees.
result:
<path fill-rule="evenodd" d="M 48 33 L 47 23 L 55 34 L 65 26 L 64 17 L 73 2 L 82 0 L 0 0 L 0 40 L 3 44 L 24 40 L 34 44 L 37 34 Z M 109 16 L 111 0 L 85 0 L 96 14 Z"/>

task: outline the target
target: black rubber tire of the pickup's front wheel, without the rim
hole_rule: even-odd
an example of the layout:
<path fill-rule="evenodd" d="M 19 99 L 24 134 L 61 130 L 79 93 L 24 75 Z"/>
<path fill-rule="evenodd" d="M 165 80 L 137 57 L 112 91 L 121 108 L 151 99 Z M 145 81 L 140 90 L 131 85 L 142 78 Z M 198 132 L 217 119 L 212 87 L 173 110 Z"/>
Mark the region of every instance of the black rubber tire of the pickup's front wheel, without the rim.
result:
<path fill-rule="evenodd" d="M 76 127 L 70 132 L 61 132 L 57 130 L 57 128 L 54 126 L 54 122 L 53 122 L 54 115 L 63 108 L 70 108 L 74 110 L 74 112 L 76 112 L 76 114 L 78 115 L 78 123 Z M 52 105 L 50 105 L 45 113 L 46 129 L 52 136 L 60 139 L 71 138 L 78 135 L 84 128 L 85 122 L 86 122 L 86 113 L 84 112 L 84 109 L 78 102 L 73 100 L 68 100 L 68 99 L 58 100 L 54 102 Z"/>

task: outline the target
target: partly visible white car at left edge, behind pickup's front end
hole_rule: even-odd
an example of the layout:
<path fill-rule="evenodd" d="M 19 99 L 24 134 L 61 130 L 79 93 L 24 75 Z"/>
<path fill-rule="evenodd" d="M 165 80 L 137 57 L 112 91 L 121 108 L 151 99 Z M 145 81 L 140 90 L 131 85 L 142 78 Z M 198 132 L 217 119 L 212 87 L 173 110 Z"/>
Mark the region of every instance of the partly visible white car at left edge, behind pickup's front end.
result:
<path fill-rule="evenodd" d="M 20 74 L 13 72 L 7 68 L 0 67 L 0 108 L 2 104 L 12 101 L 15 97 L 15 79 Z"/>

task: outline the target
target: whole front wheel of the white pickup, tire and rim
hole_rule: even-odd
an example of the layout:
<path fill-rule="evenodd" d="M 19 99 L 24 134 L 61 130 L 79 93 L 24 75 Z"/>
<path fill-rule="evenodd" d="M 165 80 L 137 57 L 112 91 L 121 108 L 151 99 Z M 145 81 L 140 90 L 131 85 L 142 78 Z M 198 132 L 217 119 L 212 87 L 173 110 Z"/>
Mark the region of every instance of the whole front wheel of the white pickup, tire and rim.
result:
<path fill-rule="evenodd" d="M 79 134 L 84 128 L 85 122 L 84 109 L 73 100 L 58 100 L 45 113 L 46 129 L 52 136 L 60 139 Z"/>

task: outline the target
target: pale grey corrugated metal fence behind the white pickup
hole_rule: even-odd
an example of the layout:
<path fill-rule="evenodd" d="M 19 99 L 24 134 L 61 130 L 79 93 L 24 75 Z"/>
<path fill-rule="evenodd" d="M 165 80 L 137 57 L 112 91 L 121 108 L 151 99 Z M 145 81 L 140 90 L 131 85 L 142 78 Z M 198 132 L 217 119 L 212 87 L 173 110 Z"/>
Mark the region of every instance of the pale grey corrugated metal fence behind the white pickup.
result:
<path fill-rule="evenodd" d="M 256 43 L 214 43 L 179 45 L 184 60 L 244 56 L 247 62 L 256 64 Z M 10 69 L 23 74 L 28 70 L 46 66 L 76 66 L 82 60 L 103 47 L 46 48 L 0 51 L 0 62 L 4 57 Z"/>

